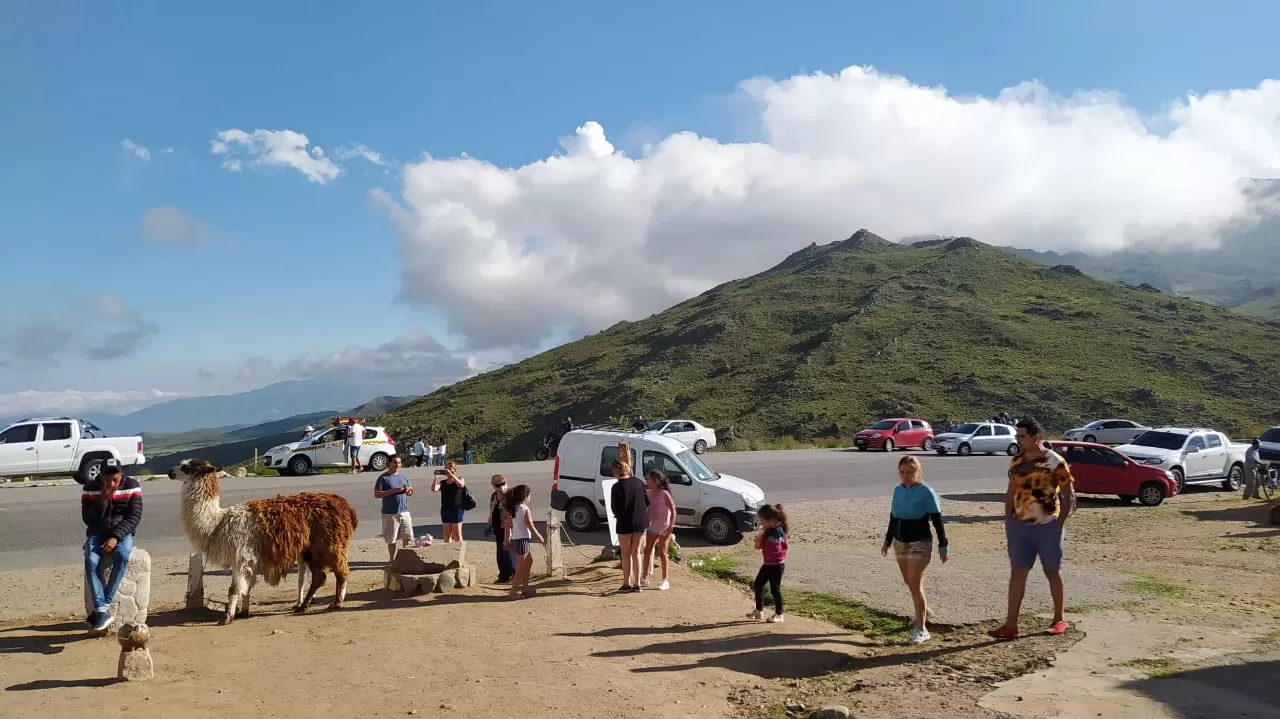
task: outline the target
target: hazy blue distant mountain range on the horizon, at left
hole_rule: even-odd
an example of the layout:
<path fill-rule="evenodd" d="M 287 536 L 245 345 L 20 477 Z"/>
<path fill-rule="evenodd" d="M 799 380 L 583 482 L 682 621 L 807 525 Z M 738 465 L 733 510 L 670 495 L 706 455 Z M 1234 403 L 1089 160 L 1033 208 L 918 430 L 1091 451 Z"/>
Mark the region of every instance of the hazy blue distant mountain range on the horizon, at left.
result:
<path fill-rule="evenodd" d="M 188 432 L 207 427 L 230 431 L 316 412 L 325 407 L 357 407 L 369 402 L 371 397 L 402 395 L 406 394 L 403 384 L 376 377 L 325 376 L 276 383 L 236 394 L 172 399 L 128 415 L 88 412 L 81 417 L 116 436 Z M 0 426 L 20 418 L 0 420 Z"/>

